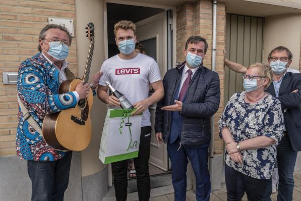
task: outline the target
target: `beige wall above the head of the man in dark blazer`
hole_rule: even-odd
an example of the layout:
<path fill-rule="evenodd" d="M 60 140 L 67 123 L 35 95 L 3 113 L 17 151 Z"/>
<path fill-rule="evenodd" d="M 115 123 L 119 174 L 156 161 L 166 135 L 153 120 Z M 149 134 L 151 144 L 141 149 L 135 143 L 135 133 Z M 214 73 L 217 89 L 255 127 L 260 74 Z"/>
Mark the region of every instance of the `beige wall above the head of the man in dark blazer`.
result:
<path fill-rule="evenodd" d="M 290 65 L 299 69 L 301 15 L 281 15 L 265 18 L 263 62 L 267 62 L 270 51 L 283 45 L 290 49 L 293 60 Z"/>

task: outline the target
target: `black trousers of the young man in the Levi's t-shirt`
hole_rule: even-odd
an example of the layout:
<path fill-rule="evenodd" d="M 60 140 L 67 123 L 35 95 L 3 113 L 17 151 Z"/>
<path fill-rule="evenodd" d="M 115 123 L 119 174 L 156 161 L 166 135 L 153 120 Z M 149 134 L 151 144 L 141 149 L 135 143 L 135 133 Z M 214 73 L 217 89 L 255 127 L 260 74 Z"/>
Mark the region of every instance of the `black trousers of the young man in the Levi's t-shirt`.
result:
<path fill-rule="evenodd" d="M 150 178 L 148 172 L 148 160 L 150 152 L 151 127 L 141 128 L 140 145 L 138 158 L 134 158 L 137 172 L 137 189 L 140 201 L 147 201 L 150 198 Z M 114 176 L 114 188 L 117 201 L 127 200 L 128 190 L 128 161 L 118 161 L 112 163 Z"/>

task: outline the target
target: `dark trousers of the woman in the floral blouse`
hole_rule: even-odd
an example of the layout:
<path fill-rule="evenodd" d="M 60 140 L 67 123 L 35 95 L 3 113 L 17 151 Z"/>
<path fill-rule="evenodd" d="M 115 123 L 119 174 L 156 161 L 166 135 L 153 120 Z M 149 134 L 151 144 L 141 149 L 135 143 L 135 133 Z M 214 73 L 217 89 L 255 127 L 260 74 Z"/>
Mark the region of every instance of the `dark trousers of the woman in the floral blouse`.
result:
<path fill-rule="evenodd" d="M 271 185 L 272 179 L 256 179 L 240 173 L 225 165 L 225 181 L 228 201 L 242 200 L 247 193 L 248 201 L 264 201 L 266 189 Z M 269 194 L 271 196 L 271 194 Z"/>

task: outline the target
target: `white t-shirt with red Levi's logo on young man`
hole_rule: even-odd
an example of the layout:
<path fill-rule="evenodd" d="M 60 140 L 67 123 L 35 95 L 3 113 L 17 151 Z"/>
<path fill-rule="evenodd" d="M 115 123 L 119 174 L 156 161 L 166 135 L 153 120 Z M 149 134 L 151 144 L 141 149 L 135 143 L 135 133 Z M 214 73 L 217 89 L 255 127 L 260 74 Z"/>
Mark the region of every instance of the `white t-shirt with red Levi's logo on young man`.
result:
<path fill-rule="evenodd" d="M 106 86 L 105 81 L 109 81 L 132 105 L 148 97 L 150 83 L 162 79 L 156 61 L 140 53 L 129 60 L 115 55 L 103 62 L 100 71 L 103 75 L 98 84 Z M 110 108 L 121 109 L 112 106 Z M 142 114 L 141 127 L 150 125 L 150 112 L 147 109 Z"/>

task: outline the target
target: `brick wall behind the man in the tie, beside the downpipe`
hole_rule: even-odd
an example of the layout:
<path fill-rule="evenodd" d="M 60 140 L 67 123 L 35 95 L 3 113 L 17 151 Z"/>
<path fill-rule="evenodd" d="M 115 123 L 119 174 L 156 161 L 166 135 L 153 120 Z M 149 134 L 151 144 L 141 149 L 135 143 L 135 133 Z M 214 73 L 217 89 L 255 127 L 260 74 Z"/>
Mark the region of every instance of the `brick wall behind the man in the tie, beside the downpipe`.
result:
<path fill-rule="evenodd" d="M 216 36 L 216 72 L 220 77 L 221 100 L 217 113 L 214 115 L 214 152 L 221 154 L 222 140 L 219 138 L 217 122 L 223 112 L 224 97 L 224 65 L 223 49 L 225 49 L 226 10 L 225 5 L 217 5 L 217 36 Z M 192 35 L 201 35 L 208 42 L 208 50 L 204 58 L 204 66 L 211 69 L 212 59 L 212 1 L 198 0 L 186 2 L 177 7 L 177 62 L 185 61 L 184 48 L 187 39 Z"/>

